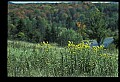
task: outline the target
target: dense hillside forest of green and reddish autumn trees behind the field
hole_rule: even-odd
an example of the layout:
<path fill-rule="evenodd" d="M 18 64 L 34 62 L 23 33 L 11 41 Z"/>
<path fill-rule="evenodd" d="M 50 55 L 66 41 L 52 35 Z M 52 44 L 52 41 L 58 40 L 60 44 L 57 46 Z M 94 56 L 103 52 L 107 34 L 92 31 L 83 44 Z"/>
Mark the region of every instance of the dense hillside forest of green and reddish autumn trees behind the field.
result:
<path fill-rule="evenodd" d="M 118 4 L 54 3 L 8 4 L 8 39 L 32 43 L 114 37 L 118 43 Z"/>

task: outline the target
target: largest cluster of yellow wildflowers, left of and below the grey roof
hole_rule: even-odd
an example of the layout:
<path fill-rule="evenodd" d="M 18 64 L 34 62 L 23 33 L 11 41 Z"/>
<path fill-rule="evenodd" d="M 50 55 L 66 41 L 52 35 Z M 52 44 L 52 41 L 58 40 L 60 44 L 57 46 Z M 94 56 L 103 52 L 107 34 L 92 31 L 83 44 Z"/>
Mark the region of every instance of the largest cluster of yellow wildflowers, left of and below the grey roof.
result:
<path fill-rule="evenodd" d="M 90 53 L 94 54 L 102 54 L 104 49 L 104 45 L 100 46 L 92 46 L 90 47 L 90 42 L 88 40 L 84 40 L 79 44 L 73 44 L 73 42 L 68 41 L 68 52 L 70 54 L 75 54 L 77 52 L 84 51 L 87 53 L 87 51 L 90 51 Z"/>

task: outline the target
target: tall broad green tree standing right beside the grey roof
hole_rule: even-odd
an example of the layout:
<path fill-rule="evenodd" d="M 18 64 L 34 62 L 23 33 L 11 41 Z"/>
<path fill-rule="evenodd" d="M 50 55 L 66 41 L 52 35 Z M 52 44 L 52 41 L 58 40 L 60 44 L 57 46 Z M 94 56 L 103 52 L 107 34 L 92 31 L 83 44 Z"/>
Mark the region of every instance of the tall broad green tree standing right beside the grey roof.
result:
<path fill-rule="evenodd" d="M 86 34 L 88 34 L 90 39 L 96 39 L 98 45 L 100 45 L 106 36 L 110 36 L 109 33 L 111 30 L 107 28 L 105 15 L 96 7 L 89 14 L 89 18 L 86 19 L 88 27 Z"/>

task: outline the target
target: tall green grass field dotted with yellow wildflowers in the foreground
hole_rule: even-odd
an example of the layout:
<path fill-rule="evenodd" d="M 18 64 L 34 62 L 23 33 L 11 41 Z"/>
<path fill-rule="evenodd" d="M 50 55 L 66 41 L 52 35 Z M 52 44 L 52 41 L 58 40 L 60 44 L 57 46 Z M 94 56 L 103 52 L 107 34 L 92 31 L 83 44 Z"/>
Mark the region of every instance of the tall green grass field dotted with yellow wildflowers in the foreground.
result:
<path fill-rule="evenodd" d="M 8 77 L 118 77 L 118 50 L 8 40 Z"/>

